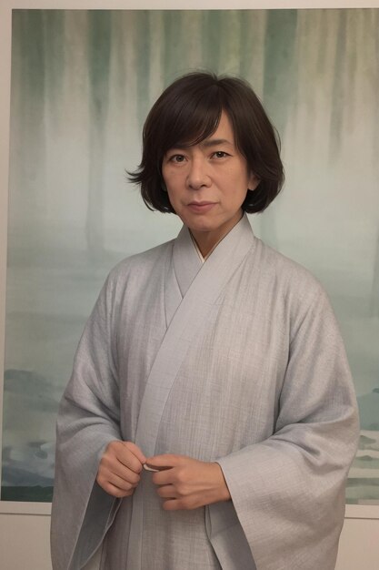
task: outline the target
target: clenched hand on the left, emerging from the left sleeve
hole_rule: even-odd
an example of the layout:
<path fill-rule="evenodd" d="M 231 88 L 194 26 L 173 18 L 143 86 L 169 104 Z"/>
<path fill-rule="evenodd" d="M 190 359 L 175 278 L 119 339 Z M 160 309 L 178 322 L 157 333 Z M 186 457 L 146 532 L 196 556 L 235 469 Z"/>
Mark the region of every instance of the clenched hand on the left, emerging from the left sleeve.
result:
<path fill-rule="evenodd" d="M 135 493 L 146 458 L 132 442 L 108 443 L 97 471 L 96 482 L 114 497 L 127 497 Z"/>

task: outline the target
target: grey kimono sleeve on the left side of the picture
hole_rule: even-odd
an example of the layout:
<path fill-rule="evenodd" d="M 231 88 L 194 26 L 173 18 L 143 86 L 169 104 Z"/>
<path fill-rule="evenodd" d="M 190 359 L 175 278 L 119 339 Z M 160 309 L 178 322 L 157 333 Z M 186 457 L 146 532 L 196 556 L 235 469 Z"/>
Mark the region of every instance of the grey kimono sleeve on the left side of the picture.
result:
<path fill-rule="evenodd" d="M 83 567 L 112 523 L 117 501 L 95 477 L 108 443 L 120 440 L 111 277 L 95 304 L 75 354 L 56 425 L 51 550 L 54 570 Z"/>

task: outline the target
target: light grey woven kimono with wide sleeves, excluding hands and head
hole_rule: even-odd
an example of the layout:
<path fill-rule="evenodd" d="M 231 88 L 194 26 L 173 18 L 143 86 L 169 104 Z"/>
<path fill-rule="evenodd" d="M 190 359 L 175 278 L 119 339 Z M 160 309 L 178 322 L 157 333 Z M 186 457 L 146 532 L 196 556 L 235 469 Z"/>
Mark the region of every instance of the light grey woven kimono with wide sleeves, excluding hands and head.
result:
<path fill-rule="evenodd" d="M 85 327 L 57 422 L 54 570 L 333 570 L 358 433 L 333 311 L 247 217 L 202 263 L 188 229 L 122 261 Z M 95 483 L 106 445 L 218 462 L 232 500 L 166 512 Z"/>

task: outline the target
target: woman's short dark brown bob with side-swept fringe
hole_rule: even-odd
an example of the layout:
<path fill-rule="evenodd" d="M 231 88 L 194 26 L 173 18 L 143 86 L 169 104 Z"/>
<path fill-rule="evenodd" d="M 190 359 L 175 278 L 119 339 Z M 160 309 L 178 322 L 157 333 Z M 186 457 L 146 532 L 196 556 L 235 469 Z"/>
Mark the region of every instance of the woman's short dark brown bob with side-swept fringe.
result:
<path fill-rule="evenodd" d="M 232 122 L 236 147 L 260 180 L 254 191 L 246 188 L 242 209 L 260 212 L 276 198 L 284 183 L 280 141 L 252 87 L 235 77 L 190 73 L 155 102 L 145 120 L 141 164 L 128 173 L 129 180 L 141 185 L 147 208 L 174 212 L 162 177 L 165 153 L 210 137 L 223 110 Z"/>

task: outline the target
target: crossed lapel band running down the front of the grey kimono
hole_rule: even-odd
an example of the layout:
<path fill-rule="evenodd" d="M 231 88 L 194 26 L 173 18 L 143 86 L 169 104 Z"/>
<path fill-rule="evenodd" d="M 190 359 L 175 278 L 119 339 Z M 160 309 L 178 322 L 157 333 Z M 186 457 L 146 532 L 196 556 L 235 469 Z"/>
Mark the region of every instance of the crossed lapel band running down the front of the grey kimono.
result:
<path fill-rule="evenodd" d="M 135 443 L 146 457 L 155 454 L 156 438 L 165 403 L 185 355 L 208 321 L 214 303 L 247 253 L 254 248 L 254 234 L 246 216 L 234 226 L 202 263 L 188 229 L 175 240 L 165 280 L 167 331 L 147 379 L 138 416 Z M 142 568 L 144 485 L 146 473 L 133 495 L 127 568 Z M 150 478 L 148 478 L 150 479 Z"/>

